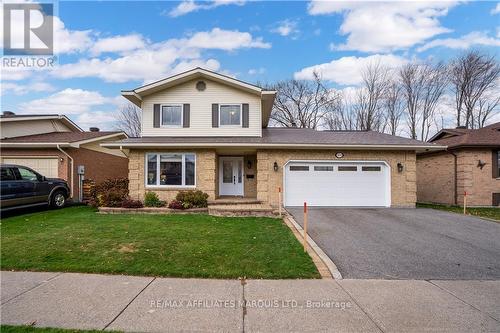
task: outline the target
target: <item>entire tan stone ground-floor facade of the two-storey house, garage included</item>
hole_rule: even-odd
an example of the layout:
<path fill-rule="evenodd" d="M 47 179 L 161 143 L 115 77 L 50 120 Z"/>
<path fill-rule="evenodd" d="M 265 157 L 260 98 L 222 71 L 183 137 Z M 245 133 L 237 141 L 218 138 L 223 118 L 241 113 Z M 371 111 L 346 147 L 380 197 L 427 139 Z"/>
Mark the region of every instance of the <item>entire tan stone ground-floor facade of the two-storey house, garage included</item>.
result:
<path fill-rule="evenodd" d="M 173 150 L 169 150 L 172 152 Z M 175 151 L 175 150 L 174 150 Z M 142 200 L 148 190 L 158 194 L 160 199 L 171 201 L 181 188 L 145 187 L 145 150 L 131 150 L 129 154 L 129 192 L 134 199 Z M 218 196 L 218 158 L 215 150 L 182 150 L 196 153 L 196 189 L 209 195 Z M 343 151 L 344 160 L 385 161 L 391 168 L 391 197 L 393 207 L 414 207 L 416 202 L 416 157 L 412 151 Z M 283 187 L 283 166 L 289 160 L 335 160 L 335 151 L 327 150 L 259 150 L 256 155 L 245 155 L 246 174 L 254 174 L 253 179 L 245 177 L 245 197 L 257 197 L 273 206 L 278 204 L 278 187 Z M 248 161 L 251 169 L 248 169 Z M 273 170 L 274 162 L 279 169 Z M 397 171 L 402 163 L 403 172 Z"/>

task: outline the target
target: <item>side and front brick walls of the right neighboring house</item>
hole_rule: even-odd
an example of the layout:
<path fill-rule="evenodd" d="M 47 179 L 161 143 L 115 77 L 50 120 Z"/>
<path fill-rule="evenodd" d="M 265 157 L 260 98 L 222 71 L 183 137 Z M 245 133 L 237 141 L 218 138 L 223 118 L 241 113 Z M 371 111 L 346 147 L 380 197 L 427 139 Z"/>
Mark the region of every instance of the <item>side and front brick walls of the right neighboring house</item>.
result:
<path fill-rule="evenodd" d="M 457 155 L 457 203 L 463 204 L 463 195 L 464 192 L 467 192 L 468 205 L 491 206 L 492 194 L 500 193 L 500 179 L 492 176 L 492 151 L 489 149 L 460 149 L 454 153 Z M 448 153 L 446 155 L 451 156 Z M 454 195 L 453 188 L 445 186 L 446 181 L 441 178 L 454 178 L 453 164 L 448 162 L 449 158 L 444 157 L 445 153 L 435 156 L 422 155 L 418 157 L 418 200 L 453 204 L 454 200 L 450 200 L 450 196 Z M 486 162 L 482 169 L 478 167 L 479 160 Z M 424 165 L 427 167 L 425 170 L 422 168 Z M 448 172 L 445 172 L 445 169 Z M 431 184 L 435 184 L 432 195 L 429 193 L 431 190 L 424 189 L 424 186 L 430 187 Z"/>

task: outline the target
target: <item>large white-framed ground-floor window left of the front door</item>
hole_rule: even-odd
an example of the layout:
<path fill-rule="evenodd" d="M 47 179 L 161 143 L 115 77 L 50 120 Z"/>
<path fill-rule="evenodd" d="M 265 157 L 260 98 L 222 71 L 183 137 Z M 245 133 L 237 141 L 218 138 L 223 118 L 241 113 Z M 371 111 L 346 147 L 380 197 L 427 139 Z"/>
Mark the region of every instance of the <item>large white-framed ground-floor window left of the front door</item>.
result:
<path fill-rule="evenodd" d="M 195 154 L 148 153 L 146 161 L 146 186 L 195 186 Z"/>

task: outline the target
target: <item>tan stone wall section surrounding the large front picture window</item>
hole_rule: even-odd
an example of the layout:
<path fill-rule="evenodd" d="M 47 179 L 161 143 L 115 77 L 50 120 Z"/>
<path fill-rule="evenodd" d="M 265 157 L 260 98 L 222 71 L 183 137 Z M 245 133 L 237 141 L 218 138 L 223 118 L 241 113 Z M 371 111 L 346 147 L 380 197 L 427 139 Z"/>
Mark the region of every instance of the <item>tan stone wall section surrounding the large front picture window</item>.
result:
<path fill-rule="evenodd" d="M 144 169 L 145 169 L 145 154 L 148 152 L 161 152 L 158 150 L 131 150 L 129 153 L 129 195 L 132 199 L 144 200 L 144 194 L 147 191 L 153 191 L 158 194 L 161 200 L 171 201 L 180 190 L 185 188 L 161 188 L 161 187 L 145 187 Z M 216 196 L 216 172 L 217 158 L 215 150 L 200 149 L 200 150 L 172 150 L 168 152 L 183 152 L 196 153 L 196 189 L 201 190 L 209 195 L 209 200 L 215 199 Z"/>

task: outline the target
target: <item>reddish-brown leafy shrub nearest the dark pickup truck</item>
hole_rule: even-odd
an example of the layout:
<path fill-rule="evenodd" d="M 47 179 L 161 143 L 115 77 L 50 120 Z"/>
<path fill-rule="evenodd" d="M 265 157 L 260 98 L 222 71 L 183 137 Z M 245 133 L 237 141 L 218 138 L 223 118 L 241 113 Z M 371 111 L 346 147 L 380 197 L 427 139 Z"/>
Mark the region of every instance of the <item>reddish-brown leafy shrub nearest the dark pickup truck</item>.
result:
<path fill-rule="evenodd" d="M 108 179 L 90 189 L 89 203 L 100 207 L 121 207 L 128 197 L 128 179 Z"/>

